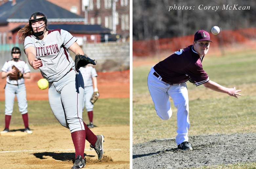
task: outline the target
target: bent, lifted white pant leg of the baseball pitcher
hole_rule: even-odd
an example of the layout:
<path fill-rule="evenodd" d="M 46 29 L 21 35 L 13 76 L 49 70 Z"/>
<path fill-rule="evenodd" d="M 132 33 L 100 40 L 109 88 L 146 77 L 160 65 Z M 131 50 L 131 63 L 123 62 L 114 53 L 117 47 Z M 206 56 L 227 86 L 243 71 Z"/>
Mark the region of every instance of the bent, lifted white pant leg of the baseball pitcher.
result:
<path fill-rule="evenodd" d="M 167 94 L 170 86 L 153 75 L 153 71 L 148 74 L 148 90 L 154 102 L 157 115 L 163 120 L 168 120 L 172 116 L 169 95 Z"/>

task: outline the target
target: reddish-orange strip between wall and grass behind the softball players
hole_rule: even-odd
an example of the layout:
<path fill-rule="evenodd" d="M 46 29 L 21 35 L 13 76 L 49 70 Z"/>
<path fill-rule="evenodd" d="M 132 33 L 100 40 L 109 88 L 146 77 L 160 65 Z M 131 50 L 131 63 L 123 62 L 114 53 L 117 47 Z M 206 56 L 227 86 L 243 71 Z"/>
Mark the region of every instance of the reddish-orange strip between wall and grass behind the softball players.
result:
<path fill-rule="evenodd" d="M 130 95 L 130 71 L 98 72 L 98 90 L 100 98 L 127 98 Z M 37 81 L 43 78 L 40 73 L 31 73 L 30 79 L 25 79 L 28 100 L 48 100 L 48 89 L 40 90 Z M 6 78 L 0 79 L 0 100 L 5 100 L 4 86 Z"/>

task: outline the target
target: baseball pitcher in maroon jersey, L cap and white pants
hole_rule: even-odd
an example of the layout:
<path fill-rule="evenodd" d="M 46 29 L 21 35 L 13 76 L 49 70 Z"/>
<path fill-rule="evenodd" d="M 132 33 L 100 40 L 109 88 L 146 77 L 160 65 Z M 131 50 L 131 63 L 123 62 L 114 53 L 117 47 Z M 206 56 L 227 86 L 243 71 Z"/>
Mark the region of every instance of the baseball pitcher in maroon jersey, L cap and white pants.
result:
<path fill-rule="evenodd" d="M 157 115 L 168 120 L 172 116 L 169 96 L 172 97 L 177 110 L 178 149 L 192 150 L 188 143 L 188 91 L 186 81 L 196 86 L 204 85 L 211 90 L 226 93 L 238 98 L 236 88 L 226 88 L 211 81 L 203 70 L 203 57 L 210 46 L 210 35 L 204 30 L 195 33 L 193 45 L 175 52 L 153 66 L 148 74 L 148 89 L 155 105 Z"/>

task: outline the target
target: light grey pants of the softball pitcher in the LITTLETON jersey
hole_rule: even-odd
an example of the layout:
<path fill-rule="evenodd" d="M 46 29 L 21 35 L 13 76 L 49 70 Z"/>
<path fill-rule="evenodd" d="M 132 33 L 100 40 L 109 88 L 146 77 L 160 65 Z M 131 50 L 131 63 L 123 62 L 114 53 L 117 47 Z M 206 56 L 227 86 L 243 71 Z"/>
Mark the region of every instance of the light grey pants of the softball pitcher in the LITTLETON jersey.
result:
<path fill-rule="evenodd" d="M 73 133 L 85 130 L 82 118 L 84 81 L 81 73 L 70 71 L 59 81 L 49 82 L 49 103 L 59 123 Z"/>

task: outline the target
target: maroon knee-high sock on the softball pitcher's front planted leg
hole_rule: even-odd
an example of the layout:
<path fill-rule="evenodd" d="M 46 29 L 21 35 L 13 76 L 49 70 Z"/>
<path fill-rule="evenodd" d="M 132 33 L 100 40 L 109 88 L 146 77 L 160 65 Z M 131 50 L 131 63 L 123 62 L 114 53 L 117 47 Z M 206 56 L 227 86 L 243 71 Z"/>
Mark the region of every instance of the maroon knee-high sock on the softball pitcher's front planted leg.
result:
<path fill-rule="evenodd" d="M 80 155 L 84 158 L 85 132 L 79 130 L 71 133 L 71 137 L 75 146 L 75 158 Z"/>

